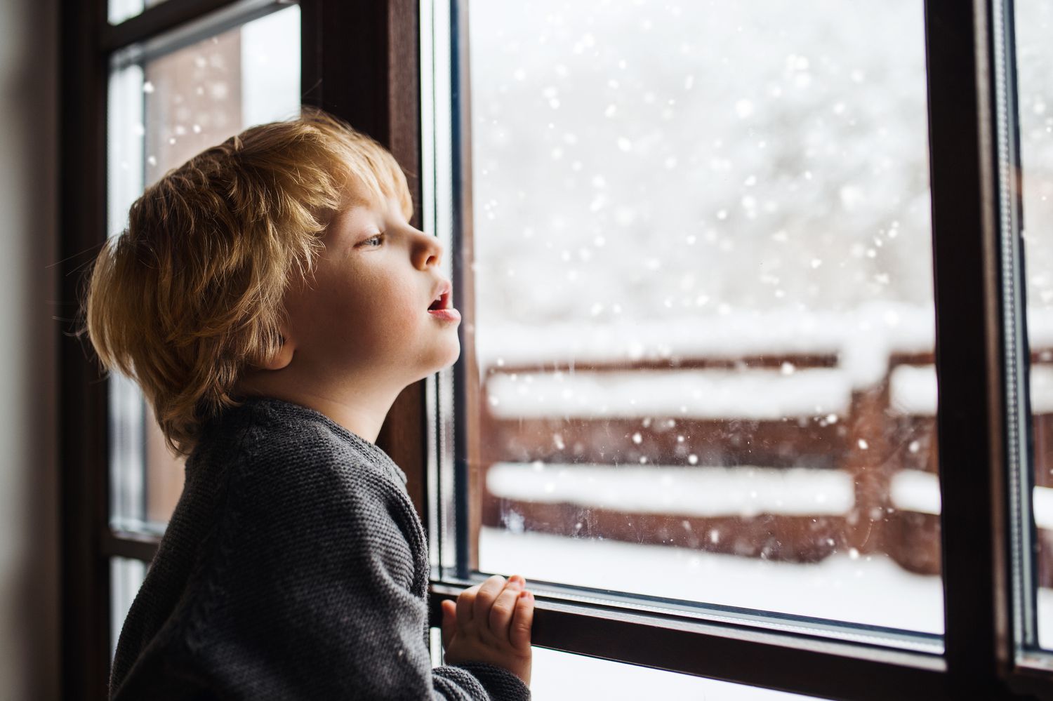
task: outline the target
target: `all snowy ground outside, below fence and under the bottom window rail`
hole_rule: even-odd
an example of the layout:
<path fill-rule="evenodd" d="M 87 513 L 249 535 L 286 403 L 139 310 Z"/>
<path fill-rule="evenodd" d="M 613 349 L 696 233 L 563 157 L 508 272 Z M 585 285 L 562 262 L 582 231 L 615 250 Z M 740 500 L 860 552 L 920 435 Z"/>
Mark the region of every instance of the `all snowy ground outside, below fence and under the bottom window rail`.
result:
<path fill-rule="evenodd" d="M 835 555 L 816 564 L 769 562 L 672 546 L 480 532 L 480 569 L 687 601 L 735 605 L 908 630 L 941 633 L 939 577 L 910 574 L 883 556 Z M 1039 642 L 1053 645 L 1053 590 L 1038 590 Z M 804 698 L 534 647 L 537 698 L 577 701 Z"/>

